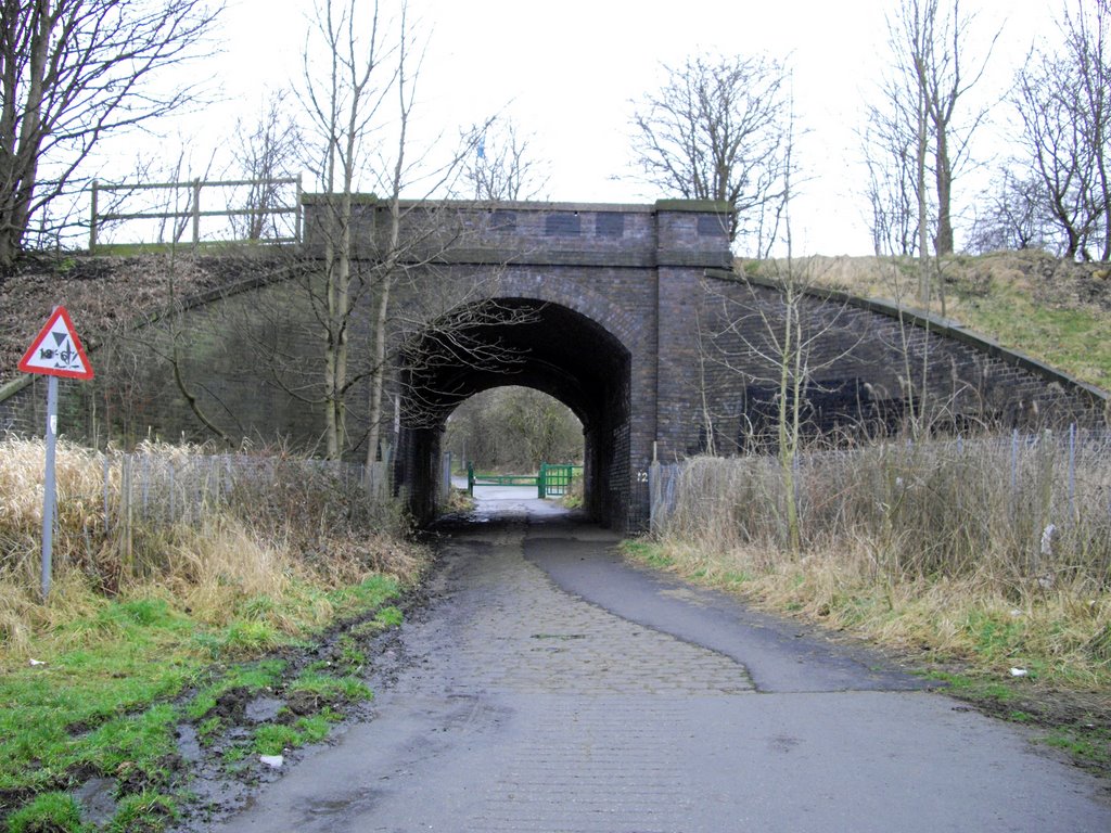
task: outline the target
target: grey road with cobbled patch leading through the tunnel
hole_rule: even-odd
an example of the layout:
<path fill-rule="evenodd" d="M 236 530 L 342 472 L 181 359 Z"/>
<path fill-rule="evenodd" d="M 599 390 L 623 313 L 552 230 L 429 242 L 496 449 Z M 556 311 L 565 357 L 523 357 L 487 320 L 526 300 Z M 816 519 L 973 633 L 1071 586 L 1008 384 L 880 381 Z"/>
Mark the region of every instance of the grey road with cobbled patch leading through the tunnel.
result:
<path fill-rule="evenodd" d="M 373 719 L 212 830 L 1111 831 L 1021 730 L 521 494 L 451 532 Z"/>

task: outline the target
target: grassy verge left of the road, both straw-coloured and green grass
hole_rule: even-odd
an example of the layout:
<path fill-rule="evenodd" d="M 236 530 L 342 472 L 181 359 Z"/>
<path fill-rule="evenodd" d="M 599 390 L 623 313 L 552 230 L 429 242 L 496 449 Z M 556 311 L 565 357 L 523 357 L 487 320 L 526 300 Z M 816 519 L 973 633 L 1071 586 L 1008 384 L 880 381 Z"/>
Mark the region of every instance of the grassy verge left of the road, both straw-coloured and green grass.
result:
<path fill-rule="evenodd" d="M 197 454 L 147 451 L 178 463 Z M 182 726 L 204 754 L 247 769 L 322 739 L 370 696 L 369 642 L 399 623 L 391 601 L 423 554 L 402 542 L 397 518 L 368 509 L 358 484 L 287 461 L 262 484 L 194 491 L 189 511 L 179 483 L 168 520 L 164 502 L 150 511 L 153 486 L 144 516 L 134 504 L 121 513 L 113 468 L 106 524 L 103 458 L 62 446 L 43 602 L 41 470 L 40 443 L 0 443 L 0 829 L 162 829 L 189 799 Z M 339 622 L 349 626 L 330 630 Z M 320 644 L 316 661 L 298 661 Z M 260 695 L 281 707 L 244 721 Z M 90 782 L 110 795 L 104 817 L 74 797 Z"/>

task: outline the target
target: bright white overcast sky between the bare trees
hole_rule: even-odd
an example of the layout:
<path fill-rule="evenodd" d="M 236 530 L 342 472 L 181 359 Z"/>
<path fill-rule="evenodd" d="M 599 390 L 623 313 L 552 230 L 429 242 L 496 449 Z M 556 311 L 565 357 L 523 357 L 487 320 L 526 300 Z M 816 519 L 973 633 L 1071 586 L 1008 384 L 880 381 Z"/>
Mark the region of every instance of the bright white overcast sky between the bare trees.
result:
<path fill-rule="evenodd" d="M 263 89 L 288 87 L 301 66 L 311 0 L 228 0 L 226 51 L 204 67 L 227 100 L 192 117 L 216 143 Z M 658 89 L 661 63 L 697 52 L 761 50 L 793 67 L 795 109 L 810 132 L 799 155 L 807 182 L 792 208 L 799 253 L 867 254 L 857 194 L 865 97 L 885 57 L 884 12 L 895 0 L 410 0 L 432 29 L 418 117 L 456 136 L 460 124 L 504 111 L 549 162 L 548 199 L 644 202 L 661 194 L 628 179 L 631 101 Z M 965 0 L 984 32 L 1004 24 L 993 77 L 1000 94 L 1038 32 L 1047 0 Z M 1055 10 L 1057 2 L 1052 2 Z M 653 11 L 659 9 L 660 11 Z M 220 126 L 229 126 L 220 133 Z M 219 136 L 216 136 L 219 134 Z M 992 139 L 984 133 L 987 145 Z M 971 182 L 971 179 L 969 180 Z M 960 183 L 958 184 L 960 188 Z M 958 194 L 961 198 L 962 194 Z M 970 194 L 963 194 L 968 202 Z"/>

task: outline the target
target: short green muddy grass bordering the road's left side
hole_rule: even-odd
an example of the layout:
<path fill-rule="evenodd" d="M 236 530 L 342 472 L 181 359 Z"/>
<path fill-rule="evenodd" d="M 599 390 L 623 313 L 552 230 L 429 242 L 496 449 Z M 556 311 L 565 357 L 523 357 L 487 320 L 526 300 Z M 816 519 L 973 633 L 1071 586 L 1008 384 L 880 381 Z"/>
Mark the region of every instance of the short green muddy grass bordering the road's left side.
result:
<path fill-rule="evenodd" d="M 344 706 L 371 696 L 358 676 L 364 650 L 340 636 L 334 659 L 303 669 L 282 654 L 319 651 L 321 629 L 337 620 L 362 622 L 363 635 L 398 623 L 388 603 L 400 592 L 397 580 L 372 576 L 326 594 L 333 606 L 323 620 L 319 600 L 306 594 L 271 609 L 281 629 L 250 605 L 216 628 L 173 600 L 112 600 L 34 640 L 36 664 L 0 679 L 0 820 L 9 814 L 0 829 L 131 830 L 138 816 L 143 830 L 162 829 L 188 789 L 182 723 L 196 726 L 202 746 L 249 724 L 246 741 L 221 751 L 229 762 L 322 740 Z M 249 721 L 244 711 L 258 697 L 284 705 Z M 110 780 L 117 802 L 99 826 L 72 811 L 74 791 L 90 779 Z M 51 821 L 59 814 L 69 821 Z"/>

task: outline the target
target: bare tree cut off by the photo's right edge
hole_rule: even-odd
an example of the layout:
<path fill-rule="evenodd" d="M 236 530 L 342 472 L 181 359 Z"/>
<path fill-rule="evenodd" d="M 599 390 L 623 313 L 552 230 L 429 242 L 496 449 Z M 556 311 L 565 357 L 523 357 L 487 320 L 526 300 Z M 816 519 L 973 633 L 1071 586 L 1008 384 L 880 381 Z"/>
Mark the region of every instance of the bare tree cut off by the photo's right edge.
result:
<path fill-rule="evenodd" d="M 1111 10 L 1065 8 L 1061 42 L 1031 53 L 1012 101 L 1022 142 L 1063 238 L 1064 257 L 1111 258 Z"/>

